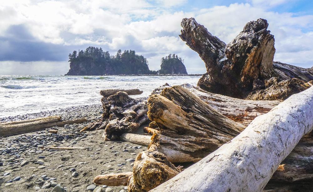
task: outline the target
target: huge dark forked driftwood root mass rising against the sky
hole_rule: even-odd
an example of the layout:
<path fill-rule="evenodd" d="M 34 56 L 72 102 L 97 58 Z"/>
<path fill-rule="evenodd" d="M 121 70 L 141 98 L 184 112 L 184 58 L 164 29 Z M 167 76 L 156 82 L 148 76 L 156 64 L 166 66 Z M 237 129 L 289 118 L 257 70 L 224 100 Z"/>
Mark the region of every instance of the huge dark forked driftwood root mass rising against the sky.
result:
<path fill-rule="evenodd" d="M 181 26 L 181 39 L 206 65 L 207 73 L 198 82 L 204 90 L 236 98 L 286 99 L 290 94 L 305 90 L 308 85 L 305 82 L 313 80 L 312 69 L 280 62 L 273 64 L 275 39 L 267 30 L 265 19 L 247 23 L 227 45 L 194 18 L 184 18 Z M 273 77 L 275 81 L 270 80 Z M 286 91 L 279 91 L 281 86 Z M 269 94 L 275 92 L 275 96 L 261 95 L 268 88 L 271 89 Z"/>

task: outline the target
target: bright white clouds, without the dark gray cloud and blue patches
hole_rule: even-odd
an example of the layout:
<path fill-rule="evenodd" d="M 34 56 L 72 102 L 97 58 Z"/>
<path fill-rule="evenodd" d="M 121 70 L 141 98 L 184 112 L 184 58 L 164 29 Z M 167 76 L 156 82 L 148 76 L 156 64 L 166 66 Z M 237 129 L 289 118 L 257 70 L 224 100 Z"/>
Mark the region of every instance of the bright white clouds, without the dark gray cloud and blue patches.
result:
<path fill-rule="evenodd" d="M 310 57 L 313 55 L 313 16 L 268 11 L 287 0 L 247 0 L 247 3 L 190 9 L 189 12 L 173 9 L 186 2 L 5 1 L 0 4 L 0 37 L 8 35 L 6 30 L 10 26 L 22 24 L 35 38 L 46 43 L 80 47 L 98 45 L 114 50 L 113 53 L 119 48 L 135 49 L 138 54 L 148 57 L 151 69 L 159 68 L 161 57 L 177 53 L 185 58 L 189 73 L 204 73 L 205 67 L 198 54 L 178 37 L 182 18 L 195 17 L 225 43 L 230 42 L 247 22 L 265 18 L 275 35 L 275 60 L 305 67 L 313 63 Z"/>

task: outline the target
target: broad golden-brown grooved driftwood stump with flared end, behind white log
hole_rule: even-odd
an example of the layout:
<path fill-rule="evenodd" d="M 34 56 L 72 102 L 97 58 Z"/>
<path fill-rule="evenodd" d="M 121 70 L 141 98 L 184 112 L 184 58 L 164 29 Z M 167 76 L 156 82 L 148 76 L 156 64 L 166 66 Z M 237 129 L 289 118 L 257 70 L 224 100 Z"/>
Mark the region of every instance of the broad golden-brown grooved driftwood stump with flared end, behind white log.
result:
<path fill-rule="evenodd" d="M 148 108 L 149 119 L 161 129 L 150 148 L 154 145 L 171 162 L 197 162 L 245 128 L 181 86 L 150 96 Z"/>

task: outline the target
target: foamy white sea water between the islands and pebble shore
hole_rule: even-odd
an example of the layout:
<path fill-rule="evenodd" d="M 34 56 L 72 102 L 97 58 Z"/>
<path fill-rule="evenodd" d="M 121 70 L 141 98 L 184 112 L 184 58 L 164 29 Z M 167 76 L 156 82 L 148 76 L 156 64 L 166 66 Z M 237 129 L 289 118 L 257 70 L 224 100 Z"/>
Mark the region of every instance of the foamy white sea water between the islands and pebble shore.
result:
<path fill-rule="evenodd" d="M 0 75 L 0 117 L 37 113 L 100 103 L 100 90 L 133 89 L 151 92 L 168 83 L 196 85 L 199 76 L 42 76 Z"/>

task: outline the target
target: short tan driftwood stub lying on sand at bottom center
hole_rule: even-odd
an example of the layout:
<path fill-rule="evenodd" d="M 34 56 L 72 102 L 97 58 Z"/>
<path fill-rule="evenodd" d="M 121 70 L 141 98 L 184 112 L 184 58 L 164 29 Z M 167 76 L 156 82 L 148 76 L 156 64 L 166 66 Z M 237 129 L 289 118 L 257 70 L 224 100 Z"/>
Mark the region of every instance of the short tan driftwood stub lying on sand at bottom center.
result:
<path fill-rule="evenodd" d="M 133 172 L 98 175 L 94 178 L 94 183 L 107 186 L 127 185 L 128 178 L 133 175 Z"/>

